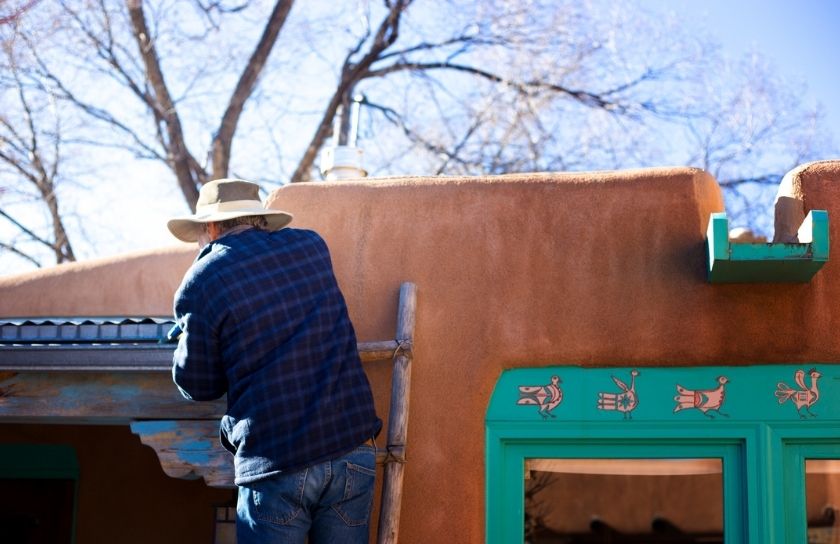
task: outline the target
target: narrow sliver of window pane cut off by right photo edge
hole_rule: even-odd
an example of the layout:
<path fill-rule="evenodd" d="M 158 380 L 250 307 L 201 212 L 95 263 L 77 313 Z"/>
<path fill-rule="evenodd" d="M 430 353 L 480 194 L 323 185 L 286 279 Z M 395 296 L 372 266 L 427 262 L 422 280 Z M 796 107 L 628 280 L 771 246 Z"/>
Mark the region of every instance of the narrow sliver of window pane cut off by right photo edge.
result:
<path fill-rule="evenodd" d="M 808 517 L 808 544 L 840 543 L 837 511 L 840 504 L 840 461 L 805 461 L 805 501 Z"/>

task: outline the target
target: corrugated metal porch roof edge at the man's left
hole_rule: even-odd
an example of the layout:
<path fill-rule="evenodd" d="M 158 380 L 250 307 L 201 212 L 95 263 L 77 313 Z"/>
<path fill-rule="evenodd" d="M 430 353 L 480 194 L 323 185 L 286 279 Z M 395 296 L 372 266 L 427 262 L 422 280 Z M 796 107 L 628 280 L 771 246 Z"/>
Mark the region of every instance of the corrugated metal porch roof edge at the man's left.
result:
<path fill-rule="evenodd" d="M 0 319 L 0 370 L 166 371 L 169 317 Z"/>

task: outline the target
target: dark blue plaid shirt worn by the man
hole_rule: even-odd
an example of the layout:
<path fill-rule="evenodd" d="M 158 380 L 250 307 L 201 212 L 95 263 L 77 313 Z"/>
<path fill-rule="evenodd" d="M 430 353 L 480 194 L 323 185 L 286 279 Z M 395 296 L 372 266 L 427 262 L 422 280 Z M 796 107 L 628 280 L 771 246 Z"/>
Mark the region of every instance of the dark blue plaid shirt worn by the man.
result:
<path fill-rule="evenodd" d="M 379 433 L 326 244 L 249 229 L 206 246 L 175 294 L 172 376 L 192 400 L 227 393 L 236 483 L 340 457 Z"/>

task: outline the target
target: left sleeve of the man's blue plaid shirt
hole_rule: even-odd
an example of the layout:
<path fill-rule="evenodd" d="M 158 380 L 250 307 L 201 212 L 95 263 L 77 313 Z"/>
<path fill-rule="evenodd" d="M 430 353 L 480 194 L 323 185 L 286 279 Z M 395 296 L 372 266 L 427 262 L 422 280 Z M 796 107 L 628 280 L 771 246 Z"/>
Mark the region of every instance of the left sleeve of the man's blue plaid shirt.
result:
<path fill-rule="evenodd" d="M 223 316 L 213 311 L 199 282 L 187 282 L 175 298 L 181 336 L 172 361 L 172 379 L 190 400 L 215 400 L 227 392 L 219 331 Z"/>

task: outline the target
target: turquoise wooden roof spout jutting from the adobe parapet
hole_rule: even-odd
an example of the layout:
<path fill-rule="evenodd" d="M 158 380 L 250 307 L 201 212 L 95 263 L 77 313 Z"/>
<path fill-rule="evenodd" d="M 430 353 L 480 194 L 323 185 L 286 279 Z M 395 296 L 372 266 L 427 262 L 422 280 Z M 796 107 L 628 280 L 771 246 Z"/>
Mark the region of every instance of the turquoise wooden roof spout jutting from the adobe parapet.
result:
<path fill-rule="evenodd" d="M 807 283 L 828 261 L 828 212 L 812 210 L 797 244 L 733 244 L 725 213 L 713 213 L 706 232 L 710 283 Z"/>

